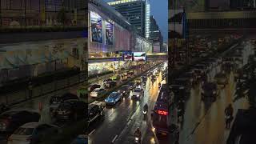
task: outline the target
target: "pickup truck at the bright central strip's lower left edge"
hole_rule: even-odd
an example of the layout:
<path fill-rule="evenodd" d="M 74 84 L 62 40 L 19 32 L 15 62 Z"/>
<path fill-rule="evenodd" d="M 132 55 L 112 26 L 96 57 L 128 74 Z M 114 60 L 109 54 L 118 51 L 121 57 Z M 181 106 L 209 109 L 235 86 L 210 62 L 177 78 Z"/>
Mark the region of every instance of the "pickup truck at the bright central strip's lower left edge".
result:
<path fill-rule="evenodd" d="M 94 101 L 88 106 L 88 122 L 94 122 L 98 118 L 105 118 L 105 102 Z"/>

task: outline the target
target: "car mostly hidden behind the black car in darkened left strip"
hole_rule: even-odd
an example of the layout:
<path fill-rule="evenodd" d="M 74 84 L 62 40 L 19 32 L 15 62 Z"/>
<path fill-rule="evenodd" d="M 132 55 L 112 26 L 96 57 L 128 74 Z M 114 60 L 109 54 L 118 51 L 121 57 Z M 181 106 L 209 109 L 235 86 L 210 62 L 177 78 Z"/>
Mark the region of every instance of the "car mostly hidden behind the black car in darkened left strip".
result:
<path fill-rule="evenodd" d="M 55 115 L 56 109 L 58 108 L 60 103 L 70 99 L 78 99 L 78 96 L 71 93 L 52 96 L 50 98 L 50 106 L 49 106 L 50 114 Z"/>

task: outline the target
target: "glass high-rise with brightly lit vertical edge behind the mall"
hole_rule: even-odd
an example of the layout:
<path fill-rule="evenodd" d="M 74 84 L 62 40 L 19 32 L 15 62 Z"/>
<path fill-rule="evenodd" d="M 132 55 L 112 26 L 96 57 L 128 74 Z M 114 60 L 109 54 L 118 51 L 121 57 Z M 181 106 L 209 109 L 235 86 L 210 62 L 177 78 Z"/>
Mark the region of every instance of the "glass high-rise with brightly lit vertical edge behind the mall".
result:
<path fill-rule="evenodd" d="M 108 2 L 131 25 L 135 26 L 138 33 L 144 38 L 150 37 L 150 4 L 148 0 L 116 0 Z"/>

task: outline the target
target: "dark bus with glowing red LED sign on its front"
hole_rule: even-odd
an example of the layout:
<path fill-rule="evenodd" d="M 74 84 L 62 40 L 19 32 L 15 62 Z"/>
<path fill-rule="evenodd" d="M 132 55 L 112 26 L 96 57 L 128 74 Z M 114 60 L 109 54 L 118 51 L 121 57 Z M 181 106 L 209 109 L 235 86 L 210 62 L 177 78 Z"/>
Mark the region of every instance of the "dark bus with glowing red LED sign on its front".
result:
<path fill-rule="evenodd" d="M 174 109 L 174 94 L 170 94 L 168 85 L 163 84 L 152 113 L 152 125 L 156 134 L 169 134 L 170 126 L 177 120 L 177 112 Z"/>

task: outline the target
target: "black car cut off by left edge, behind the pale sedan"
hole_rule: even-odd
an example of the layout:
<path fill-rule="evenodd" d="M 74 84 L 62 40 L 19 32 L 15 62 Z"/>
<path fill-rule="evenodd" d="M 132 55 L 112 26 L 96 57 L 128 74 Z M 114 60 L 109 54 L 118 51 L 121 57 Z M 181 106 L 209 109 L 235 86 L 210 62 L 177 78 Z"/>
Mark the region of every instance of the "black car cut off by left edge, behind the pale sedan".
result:
<path fill-rule="evenodd" d="M 0 134 L 9 136 L 28 122 L 38 122 L 41 115 L 30 110 L 8 110 L 0 115 Z"/>

